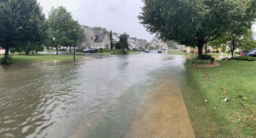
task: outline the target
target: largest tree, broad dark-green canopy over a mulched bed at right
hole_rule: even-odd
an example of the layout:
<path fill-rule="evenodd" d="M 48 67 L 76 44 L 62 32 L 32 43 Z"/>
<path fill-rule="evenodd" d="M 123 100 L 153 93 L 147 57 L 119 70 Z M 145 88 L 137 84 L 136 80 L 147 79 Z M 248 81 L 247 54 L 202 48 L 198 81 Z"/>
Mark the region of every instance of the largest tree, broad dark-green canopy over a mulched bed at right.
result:
<path fill-rule="evenodd" d="M 220 37 L 235 24 L 252 26 L 255 0 L 142 0 L 141 20 L 158 38 L 198 47 L 202 59 L 205 43 Z"/>

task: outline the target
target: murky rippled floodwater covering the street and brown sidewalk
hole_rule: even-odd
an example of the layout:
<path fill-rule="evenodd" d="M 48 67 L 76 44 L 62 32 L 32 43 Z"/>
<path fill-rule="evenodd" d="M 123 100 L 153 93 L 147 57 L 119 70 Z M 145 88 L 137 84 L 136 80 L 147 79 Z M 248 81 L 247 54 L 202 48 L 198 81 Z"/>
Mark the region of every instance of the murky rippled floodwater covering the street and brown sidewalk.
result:
<path fill-rule="evenodd" d="M 194 137 L 183 61 L 154 51 L 0 66 L 0 137 Z"/>

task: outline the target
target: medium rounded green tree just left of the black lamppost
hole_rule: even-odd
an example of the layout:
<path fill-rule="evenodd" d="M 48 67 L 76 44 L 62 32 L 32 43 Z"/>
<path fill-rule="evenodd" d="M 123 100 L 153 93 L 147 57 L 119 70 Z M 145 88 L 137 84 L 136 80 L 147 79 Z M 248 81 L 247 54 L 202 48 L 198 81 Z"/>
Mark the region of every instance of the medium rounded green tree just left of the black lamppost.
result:
<path fill-rule="evenodd" d="M 65 7 L 52 7 L 48 12 L 48 39 L 46 45 L 56 48 L 56 54 L 58 55 L 58 48 L 61 45 L 71 44 L 71 32 L 73 31 L 73 19 L 70 12 Z"/>

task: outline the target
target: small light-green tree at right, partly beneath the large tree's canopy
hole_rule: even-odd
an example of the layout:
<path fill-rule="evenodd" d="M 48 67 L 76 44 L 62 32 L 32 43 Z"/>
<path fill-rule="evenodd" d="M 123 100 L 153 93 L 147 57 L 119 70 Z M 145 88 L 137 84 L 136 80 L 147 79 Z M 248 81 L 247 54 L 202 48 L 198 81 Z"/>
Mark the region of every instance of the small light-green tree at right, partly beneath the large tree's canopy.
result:
<path fill-rule="evenodd" d="M 214 47 L 228 46 L 231 56 L 234 56 L 234 51 L 237 48 L 247 49 L 255 47 L 255 40 L 251 40 L 253 32 L 247 27 L 236 27 L 230 29 L 228 32 L 224 33 L 222 37 L 210 42 Z"/>

